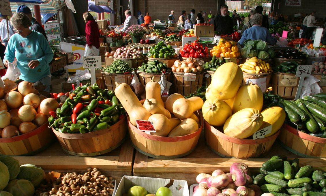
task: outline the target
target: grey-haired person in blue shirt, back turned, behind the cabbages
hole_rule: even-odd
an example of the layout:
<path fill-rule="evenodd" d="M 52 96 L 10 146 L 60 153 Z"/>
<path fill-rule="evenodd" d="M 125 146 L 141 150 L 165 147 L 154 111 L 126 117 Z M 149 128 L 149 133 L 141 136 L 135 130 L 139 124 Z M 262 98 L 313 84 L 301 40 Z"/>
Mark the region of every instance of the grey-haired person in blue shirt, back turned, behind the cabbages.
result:
<path fill-rule="evenodd" d="M 262 18 L 263 16 L 258 13 L 252 16 L 250 20 L 252 27 L 244 30 L 242 37 L 239 41 L 241 45 L 243 45 L 244 41 L 247 39 L 262 40 L 272 45 L 276 44 L 276 39 L 272 37 L 272 35 L 268 32 L 268 29 L 265 27 L 261 27 Z"/>

